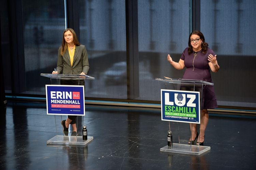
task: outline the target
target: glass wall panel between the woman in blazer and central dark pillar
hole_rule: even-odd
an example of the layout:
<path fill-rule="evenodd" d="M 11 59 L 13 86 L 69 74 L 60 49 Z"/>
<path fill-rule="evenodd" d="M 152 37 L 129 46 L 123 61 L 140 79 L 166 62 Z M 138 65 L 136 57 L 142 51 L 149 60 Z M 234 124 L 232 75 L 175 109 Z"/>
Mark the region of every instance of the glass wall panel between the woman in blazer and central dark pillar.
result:
<path fill-rule="evenodd" d="M 79 23 L 95 77 L 86 81 L 86 97 L 127 99 L 125 0 L 80 0 Z"/>

